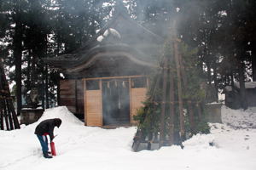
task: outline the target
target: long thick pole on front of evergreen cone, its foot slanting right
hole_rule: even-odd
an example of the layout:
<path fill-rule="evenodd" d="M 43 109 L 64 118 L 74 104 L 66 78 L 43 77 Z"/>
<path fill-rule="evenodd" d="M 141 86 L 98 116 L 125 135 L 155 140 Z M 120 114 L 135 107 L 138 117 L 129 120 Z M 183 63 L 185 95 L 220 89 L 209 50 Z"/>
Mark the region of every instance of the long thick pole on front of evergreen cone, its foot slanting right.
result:
<path fill-rule="evenodd" d="M 185 139 L 184 131 L 184 115 L 183 115 L 183 99 L 182 99 L 182 82 L 181 82 L 181 73 L 180 73 L 180 63 L 179 63 L 179 54 L 177 48 L 177 41 L 173 42 L 174 46 L 174 58 L 177 68 L 177 94 L 178 94 L 178 111 L 179 111 L 179 126 L 180 126 L 180 135 L 181 139 Z"/>

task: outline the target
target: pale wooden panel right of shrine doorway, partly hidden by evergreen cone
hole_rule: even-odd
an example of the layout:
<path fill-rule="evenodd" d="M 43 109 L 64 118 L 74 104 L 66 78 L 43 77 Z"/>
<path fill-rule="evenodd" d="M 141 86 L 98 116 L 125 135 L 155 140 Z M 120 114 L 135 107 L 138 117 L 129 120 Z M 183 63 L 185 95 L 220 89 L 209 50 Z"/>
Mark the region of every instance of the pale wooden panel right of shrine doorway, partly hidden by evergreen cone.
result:
<path fill-rule="evenodd" d="M 143 106 L 146 99 L 147 88 L 131 88 L 131 124 L 136 124 L 133 116 L 137 115 L 137 109 Z"/>

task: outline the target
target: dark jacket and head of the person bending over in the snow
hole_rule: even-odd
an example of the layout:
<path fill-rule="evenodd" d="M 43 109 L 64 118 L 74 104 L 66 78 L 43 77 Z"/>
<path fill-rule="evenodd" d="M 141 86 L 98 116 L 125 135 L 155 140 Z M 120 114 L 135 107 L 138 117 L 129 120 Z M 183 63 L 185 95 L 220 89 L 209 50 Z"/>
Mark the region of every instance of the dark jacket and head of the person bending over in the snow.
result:
<path fill-rule="evenodd" d="M 43 122 L 40 122 L 38 126 L 36 127 L 35 134 L 38 135 L 44 135 L 44 133 L 49 134 L 49 139 L 54 139 L 54 128 L 61 126 L 61 119 L 55 118 L 55 119 L 47 119 Z"/>

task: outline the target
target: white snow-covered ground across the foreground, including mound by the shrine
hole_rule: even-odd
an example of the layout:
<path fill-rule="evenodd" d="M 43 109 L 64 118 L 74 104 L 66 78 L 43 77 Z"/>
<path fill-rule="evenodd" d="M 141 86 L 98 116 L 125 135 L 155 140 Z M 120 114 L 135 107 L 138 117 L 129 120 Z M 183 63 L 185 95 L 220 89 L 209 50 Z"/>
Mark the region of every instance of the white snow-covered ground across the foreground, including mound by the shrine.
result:
<path fill-rule="evenodd" d="M 222 108 L 224 124 L 212 123 L 211 133 L 195 135 L 179 146 L 131 150 L 136 127 L 84 127 L 66 107 L 44 112 L 38 122 L 59 117 L 55 127 L 57 156 L 44 159 L 34 129 L 38 122 L 14 131 L 0 131 L 1 170 L 255 170 L 256 109 Z M 209 143 L 213 143 L 211 146 Z"/>

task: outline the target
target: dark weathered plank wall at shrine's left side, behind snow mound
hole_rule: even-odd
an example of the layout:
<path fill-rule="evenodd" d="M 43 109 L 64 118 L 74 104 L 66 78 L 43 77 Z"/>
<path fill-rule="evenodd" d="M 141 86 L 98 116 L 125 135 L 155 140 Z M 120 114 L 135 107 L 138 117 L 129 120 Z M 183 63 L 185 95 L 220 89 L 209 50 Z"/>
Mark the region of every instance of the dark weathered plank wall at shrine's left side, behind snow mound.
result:
<path fill-rule="evenodd" d="M 60 104 L 74 114 L 84 116 L 84 88 L 82 80 L 61 80 Z"/>

